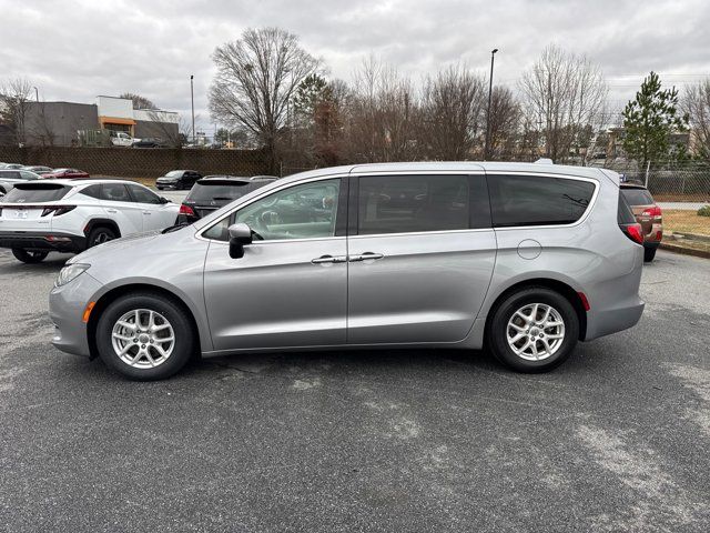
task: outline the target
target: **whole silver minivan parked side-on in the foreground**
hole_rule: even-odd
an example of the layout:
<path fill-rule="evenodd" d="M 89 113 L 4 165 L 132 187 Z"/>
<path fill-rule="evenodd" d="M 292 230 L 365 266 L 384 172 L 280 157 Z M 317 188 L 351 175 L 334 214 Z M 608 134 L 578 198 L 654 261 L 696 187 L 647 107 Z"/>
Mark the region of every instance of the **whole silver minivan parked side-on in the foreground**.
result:
<path fill-rule="evenodd" d="M 395 346 L 486 345 L 546 371 L 639 321 L 641 243 L 607 170 L 315 170 L 70 259 L 52 344 L 136 380 L 195 354 Z"/>

